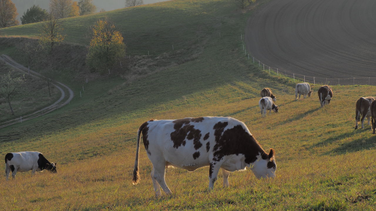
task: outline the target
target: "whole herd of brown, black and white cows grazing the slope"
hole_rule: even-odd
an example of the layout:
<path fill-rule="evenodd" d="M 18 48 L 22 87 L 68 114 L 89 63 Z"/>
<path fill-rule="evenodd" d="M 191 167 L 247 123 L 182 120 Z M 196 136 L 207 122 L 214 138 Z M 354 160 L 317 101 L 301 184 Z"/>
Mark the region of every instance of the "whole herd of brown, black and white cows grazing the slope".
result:
<path fill-rule="evenodd" d="M 308 83 L 295 86 L 295 99 L 300 96 L 310 97 L 313 90 Z M 259 107 L 262 117 L 267 111 L 278 112 L 276 96 L 270 88 L 261 90 Z M 333 90 L 329 85 L 318 89 L 320 106 L 329 105 Z M 361 121 L 364 128 L 364 118 L 370 124 L 375 134 L 376 100 L 375 97 L 360 97 L 356 102 L 355 129 Z M 231 117 L 199 117 L 177 120 L 149 120 L 138 129 L 135 165 L 133 169 L 133 184 L 139 182 L 139 147 L 141 134 L 146 154 L 152 162 L 151 177 L 155 196 L 160 196 L 161 188 L 166 194 L 171 190 L 165 182 L 165 169 L 169 166 L 195 171 L 209 166 L 209 190 L 213 189 L 217 175 L 221 169 L 223 186 L 229 186 L 229 172 L 250 168 L 257 178 L 273 178 L 276 172 L 275 152 L 264 151 L 259 142 L 250 133 L 247 126 Z M 44 169 L 56 173 L 56 163 L 50 163 L 42 153 L 24 151 L 8 153 L 5 156 L 6 180 L 12 171 L 15 178 L 17 172 L 36 171 Z"/>

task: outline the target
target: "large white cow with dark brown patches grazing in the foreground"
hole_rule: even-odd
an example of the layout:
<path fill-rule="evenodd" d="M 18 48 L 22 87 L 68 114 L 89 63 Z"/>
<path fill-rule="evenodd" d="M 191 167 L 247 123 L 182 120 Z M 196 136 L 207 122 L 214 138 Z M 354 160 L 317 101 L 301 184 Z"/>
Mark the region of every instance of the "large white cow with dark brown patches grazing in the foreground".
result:
<path fill-rule="evenodd" d="M 209 190 L 213 189 L 219 169 L 223 186 L 229 186 L 229 172 L 250 168 L 257 178 L 275 177 L 274 150 L 266 153 L 247 126 L 231 117 L 199 117 L 178 120 L 150 120 L 137 133 L 133 184 L 139 181 L 138 153 L 140 135 L 153 164 L 151 172 L 155 196 L 160 187 L 171 194 L 165 182 L 165 168 L 173 166 L 195 171 L 209 166 Z"/>

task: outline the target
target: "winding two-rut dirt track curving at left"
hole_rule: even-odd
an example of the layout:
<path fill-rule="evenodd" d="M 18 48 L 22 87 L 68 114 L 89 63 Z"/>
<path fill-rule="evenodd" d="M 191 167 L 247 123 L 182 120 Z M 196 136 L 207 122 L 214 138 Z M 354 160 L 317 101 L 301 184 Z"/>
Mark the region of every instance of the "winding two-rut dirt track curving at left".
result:
<path fill-rule="evenodd" d="M 0 60 L 4 61 L 6 64 L 8 64 L 8 65 L 10 65 L 10 66 L 12 66 L 16 69 L 21 70 L 21 71 L 25 72 L 26 74 L 28 74 L 27 67 L 15 62 L 8 55 L 4 55 L 4 54 L 0 55 Z M 33 77 L 36 77 L 36 78 L 43 78 L 44 77 L 41 74 L 39 74 L 39 73 L 37 73 L 33 70 L 30 70 L 30 75 L 33 76 Z M 32 114 L 28 114 L 28 115 L 23 116 L 22 121 L 31 120 L 33 118 L 36 118 L 36 117 L 39 117 L 41 115 L 47 114 L 51 111 L 54 111 L 55 109 L 61 108 L 62 106 L 67 105 L 73 99 L 74 93 L 67 85 L 62 84 L 61 82 L 57 82 L 57 81 L 52 82 L 51 84 L 53 86 L 55 86 L 56 88 L 58 88 L 58 90 L 61 92 L 60 98 L 56 102 L 54 102 L 52 105 L 49 105 L 45 108 L 42 108 L 38 111 L 35 111 Z M 65 91 L 67 91 L 68 93 L 65 93 Z M 16 118 L 14 120 L 9 120 L 9 121 L 0 123 L 0 128 L 9 126 L 9 125 L 12 125 L 12 124 L 15 124 L 15 123 L 20 123 L 20 122 L 21 122 L 20 118 Z"/>

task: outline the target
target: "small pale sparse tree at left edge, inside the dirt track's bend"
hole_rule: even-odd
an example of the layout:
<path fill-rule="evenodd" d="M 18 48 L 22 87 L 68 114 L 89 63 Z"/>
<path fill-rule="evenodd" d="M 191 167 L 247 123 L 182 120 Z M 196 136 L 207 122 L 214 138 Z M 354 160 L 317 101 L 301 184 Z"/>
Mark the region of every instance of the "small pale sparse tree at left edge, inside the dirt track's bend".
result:
<path fill-rule="evenodd" d="M 14 72 L 14 70 L 9 71 L 7 74 L 1 77 L 0 96 L 6 99 L 9 104 L 9 108 L 11 108 L 12 115 L 14 115 L 11 100 L 14 96 L 22 92 L 22 85 L 25 83 L 25 75 L 18 78 L 12 78 L 12 72 Z"/>

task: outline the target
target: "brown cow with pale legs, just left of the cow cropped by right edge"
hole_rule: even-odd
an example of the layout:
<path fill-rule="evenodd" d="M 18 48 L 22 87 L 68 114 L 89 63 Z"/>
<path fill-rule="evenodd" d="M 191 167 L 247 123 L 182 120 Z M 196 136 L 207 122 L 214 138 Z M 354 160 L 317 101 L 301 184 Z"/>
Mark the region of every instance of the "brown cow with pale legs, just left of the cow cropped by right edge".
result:
<path fill-rule="evenodd" d="M 370 125 L 371 103 L 375 100 L 375 97 L 361 97 L 356 100 L 355 104 L 355 130 L 358 129 L 358 123 L 361 121 L 362 129 L 364 129 L 364 118 L 367 117 L 368 125 Z M 362 115 L 362 118 L 360 118 Z"/>

